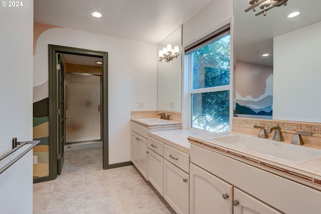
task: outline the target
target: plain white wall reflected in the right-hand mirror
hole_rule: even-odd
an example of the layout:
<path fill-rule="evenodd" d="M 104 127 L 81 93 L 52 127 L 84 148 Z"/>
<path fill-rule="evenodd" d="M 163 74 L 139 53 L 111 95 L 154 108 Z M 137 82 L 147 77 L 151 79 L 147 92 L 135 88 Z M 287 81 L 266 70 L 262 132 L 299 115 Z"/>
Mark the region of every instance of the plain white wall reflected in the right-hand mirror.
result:
<path fill-rule="evenodd" d="M 321 123 L 320 38 L 321 22 L 274 38 L 274 120 Z"/>

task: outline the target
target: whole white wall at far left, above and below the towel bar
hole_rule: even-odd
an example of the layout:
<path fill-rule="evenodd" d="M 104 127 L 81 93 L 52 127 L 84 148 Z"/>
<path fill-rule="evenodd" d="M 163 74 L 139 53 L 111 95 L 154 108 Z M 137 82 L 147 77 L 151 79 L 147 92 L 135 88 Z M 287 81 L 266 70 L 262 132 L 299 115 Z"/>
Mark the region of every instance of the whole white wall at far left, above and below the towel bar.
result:
<path fill-rule="evenodd" d="M 0 7 L 0 155 L 33 138 L 33 12 L 33 0 Z M 0 175 L 0 192 L 2 213 L 32 213 L 32 151 Z"/>

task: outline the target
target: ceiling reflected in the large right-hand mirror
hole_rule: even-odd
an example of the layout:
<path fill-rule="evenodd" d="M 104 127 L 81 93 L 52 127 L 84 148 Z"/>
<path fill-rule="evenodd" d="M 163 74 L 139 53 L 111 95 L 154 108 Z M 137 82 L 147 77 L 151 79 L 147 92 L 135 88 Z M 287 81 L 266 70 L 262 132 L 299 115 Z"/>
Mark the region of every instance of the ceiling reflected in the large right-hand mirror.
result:
<path fill-rule="evenodd" d="M 287 6 L 272 8 L 267 15 L 255 16 L 248 0 L 234 0 L 234 51 L 236 60 L 273 66 L 273 38 L 321 21 L 319 0 L 288 0 Z M 300 15 L 289 19 L 294 11 Z M 266 58 L 262 54 L 269 53 Z"/>

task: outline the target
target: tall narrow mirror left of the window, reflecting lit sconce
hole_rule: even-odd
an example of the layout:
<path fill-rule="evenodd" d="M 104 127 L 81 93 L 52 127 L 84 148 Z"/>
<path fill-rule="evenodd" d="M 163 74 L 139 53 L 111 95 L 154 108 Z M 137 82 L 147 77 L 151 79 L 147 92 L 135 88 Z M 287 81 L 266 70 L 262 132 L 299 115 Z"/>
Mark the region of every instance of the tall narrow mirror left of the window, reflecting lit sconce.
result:
<path fill-rule="evenodd" d="M 181 112 L 182 26 L 157 45 L 157 55 L 169 44 L 177 56 L 168 62 L 166 59 L 157 61 L 157 110 Z"/>

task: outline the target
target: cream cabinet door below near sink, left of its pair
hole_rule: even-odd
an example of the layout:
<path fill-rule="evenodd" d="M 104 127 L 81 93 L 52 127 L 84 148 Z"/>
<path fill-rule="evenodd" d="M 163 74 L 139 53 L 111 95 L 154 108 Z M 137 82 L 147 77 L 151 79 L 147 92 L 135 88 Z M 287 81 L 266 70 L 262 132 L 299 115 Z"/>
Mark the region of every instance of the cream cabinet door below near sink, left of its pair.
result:
<path fill-rule="evenodd" d="M 190 213 L 230 214 L 232 198 L 232 185 L 190 164 Z"/>

